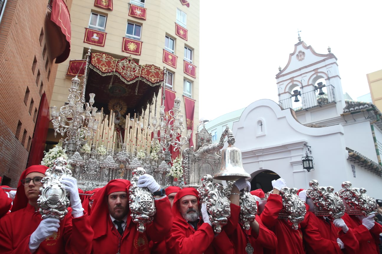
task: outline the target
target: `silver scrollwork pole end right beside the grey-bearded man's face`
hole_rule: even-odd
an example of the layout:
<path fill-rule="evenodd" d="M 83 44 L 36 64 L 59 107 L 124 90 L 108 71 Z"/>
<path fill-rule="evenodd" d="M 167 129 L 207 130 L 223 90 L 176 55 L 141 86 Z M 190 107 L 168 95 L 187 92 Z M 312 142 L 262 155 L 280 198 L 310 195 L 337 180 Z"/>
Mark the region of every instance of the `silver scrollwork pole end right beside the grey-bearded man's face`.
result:
<path fill-rule="evenodd" d="M 215 233 L 222 231 L 222 226 L 227 224 L 231 216 L 230 200 L 223 193 L 222 184 L 212 184 L 212 176 L 206 174 L 202 177 L 202 187 L 199 192 L 200 203 L 205 203 Z"/>

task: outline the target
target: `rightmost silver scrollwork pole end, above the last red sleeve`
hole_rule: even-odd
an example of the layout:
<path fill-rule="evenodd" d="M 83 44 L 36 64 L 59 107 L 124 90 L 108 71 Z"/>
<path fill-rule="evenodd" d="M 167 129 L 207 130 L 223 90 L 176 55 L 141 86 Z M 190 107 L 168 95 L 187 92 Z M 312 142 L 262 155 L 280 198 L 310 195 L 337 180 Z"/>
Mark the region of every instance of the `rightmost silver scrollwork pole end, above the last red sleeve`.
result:
<path fill-rule="evenodd" d="M 342 189 L 335 193 L 345 201 L 347 214 L 363 214 L 369 216 L 375 214 L 378 210 L 374 198 L 366 195 L 364 188 L 352 188 L 351 182 L 342 183 Z"/>

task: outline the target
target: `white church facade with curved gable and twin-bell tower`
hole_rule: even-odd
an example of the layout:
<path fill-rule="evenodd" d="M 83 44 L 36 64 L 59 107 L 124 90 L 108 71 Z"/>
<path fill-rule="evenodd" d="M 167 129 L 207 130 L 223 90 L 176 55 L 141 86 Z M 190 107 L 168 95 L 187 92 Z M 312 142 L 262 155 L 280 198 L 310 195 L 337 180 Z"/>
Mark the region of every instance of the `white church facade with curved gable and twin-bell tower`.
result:
<path fill-rule="evenodd" d="M 303 41 L 276 75 L 279 104 L 261 99 L 233 123 L 252 189 L 269 189 L 261 173 L 280 176 L 289 187 L 320 185 L 341 189 L 343 181 L 382 198 L 381 112 L 371 103 L 345 100 L 337 58 L 319 54 Z M 310 147 L 311 153 L 306 149 Z M 302 157 L 313 157 L 314 170 Z"/>

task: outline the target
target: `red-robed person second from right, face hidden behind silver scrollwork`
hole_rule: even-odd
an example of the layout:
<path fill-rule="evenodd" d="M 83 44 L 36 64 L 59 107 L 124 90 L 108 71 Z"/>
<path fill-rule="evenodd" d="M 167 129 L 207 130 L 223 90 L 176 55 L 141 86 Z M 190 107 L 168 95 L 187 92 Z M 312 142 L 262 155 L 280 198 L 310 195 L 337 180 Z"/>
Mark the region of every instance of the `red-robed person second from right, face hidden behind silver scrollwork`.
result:
<path fill-rule="evenodd" d="M 332 220 L 327 216 L 316 216 L 313 201 L 307 198 L 306 190 L 300 189 L 298 196 L 306 205 L 306 215 L 300 226 L 307 254 L 359 253 L 359 244 L 353 230 L 346 227 L 341 218 Z M 310 205 L 306 203 L 307 200 Z M 335 225 L 342 225 L 342 230 Z"/>

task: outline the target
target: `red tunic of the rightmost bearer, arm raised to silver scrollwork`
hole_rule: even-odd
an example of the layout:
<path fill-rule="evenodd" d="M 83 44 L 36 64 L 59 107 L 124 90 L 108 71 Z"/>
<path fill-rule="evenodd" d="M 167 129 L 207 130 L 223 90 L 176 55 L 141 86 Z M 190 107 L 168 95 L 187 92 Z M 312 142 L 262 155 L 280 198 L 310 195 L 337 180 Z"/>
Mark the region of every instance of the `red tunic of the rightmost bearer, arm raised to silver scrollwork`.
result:
<path fill-rule="evenodd" d="M 359 220 L 355 215 L 345 213 L 342 216 L 346 225 L 353 229 L 354 236 L 359 243 L 359 253 L 379 254 L 379 233 L 382 233 L 382 226 L 374 222 L 374 227 L 368 230 L 362 225 L 362 220 Z"/>

